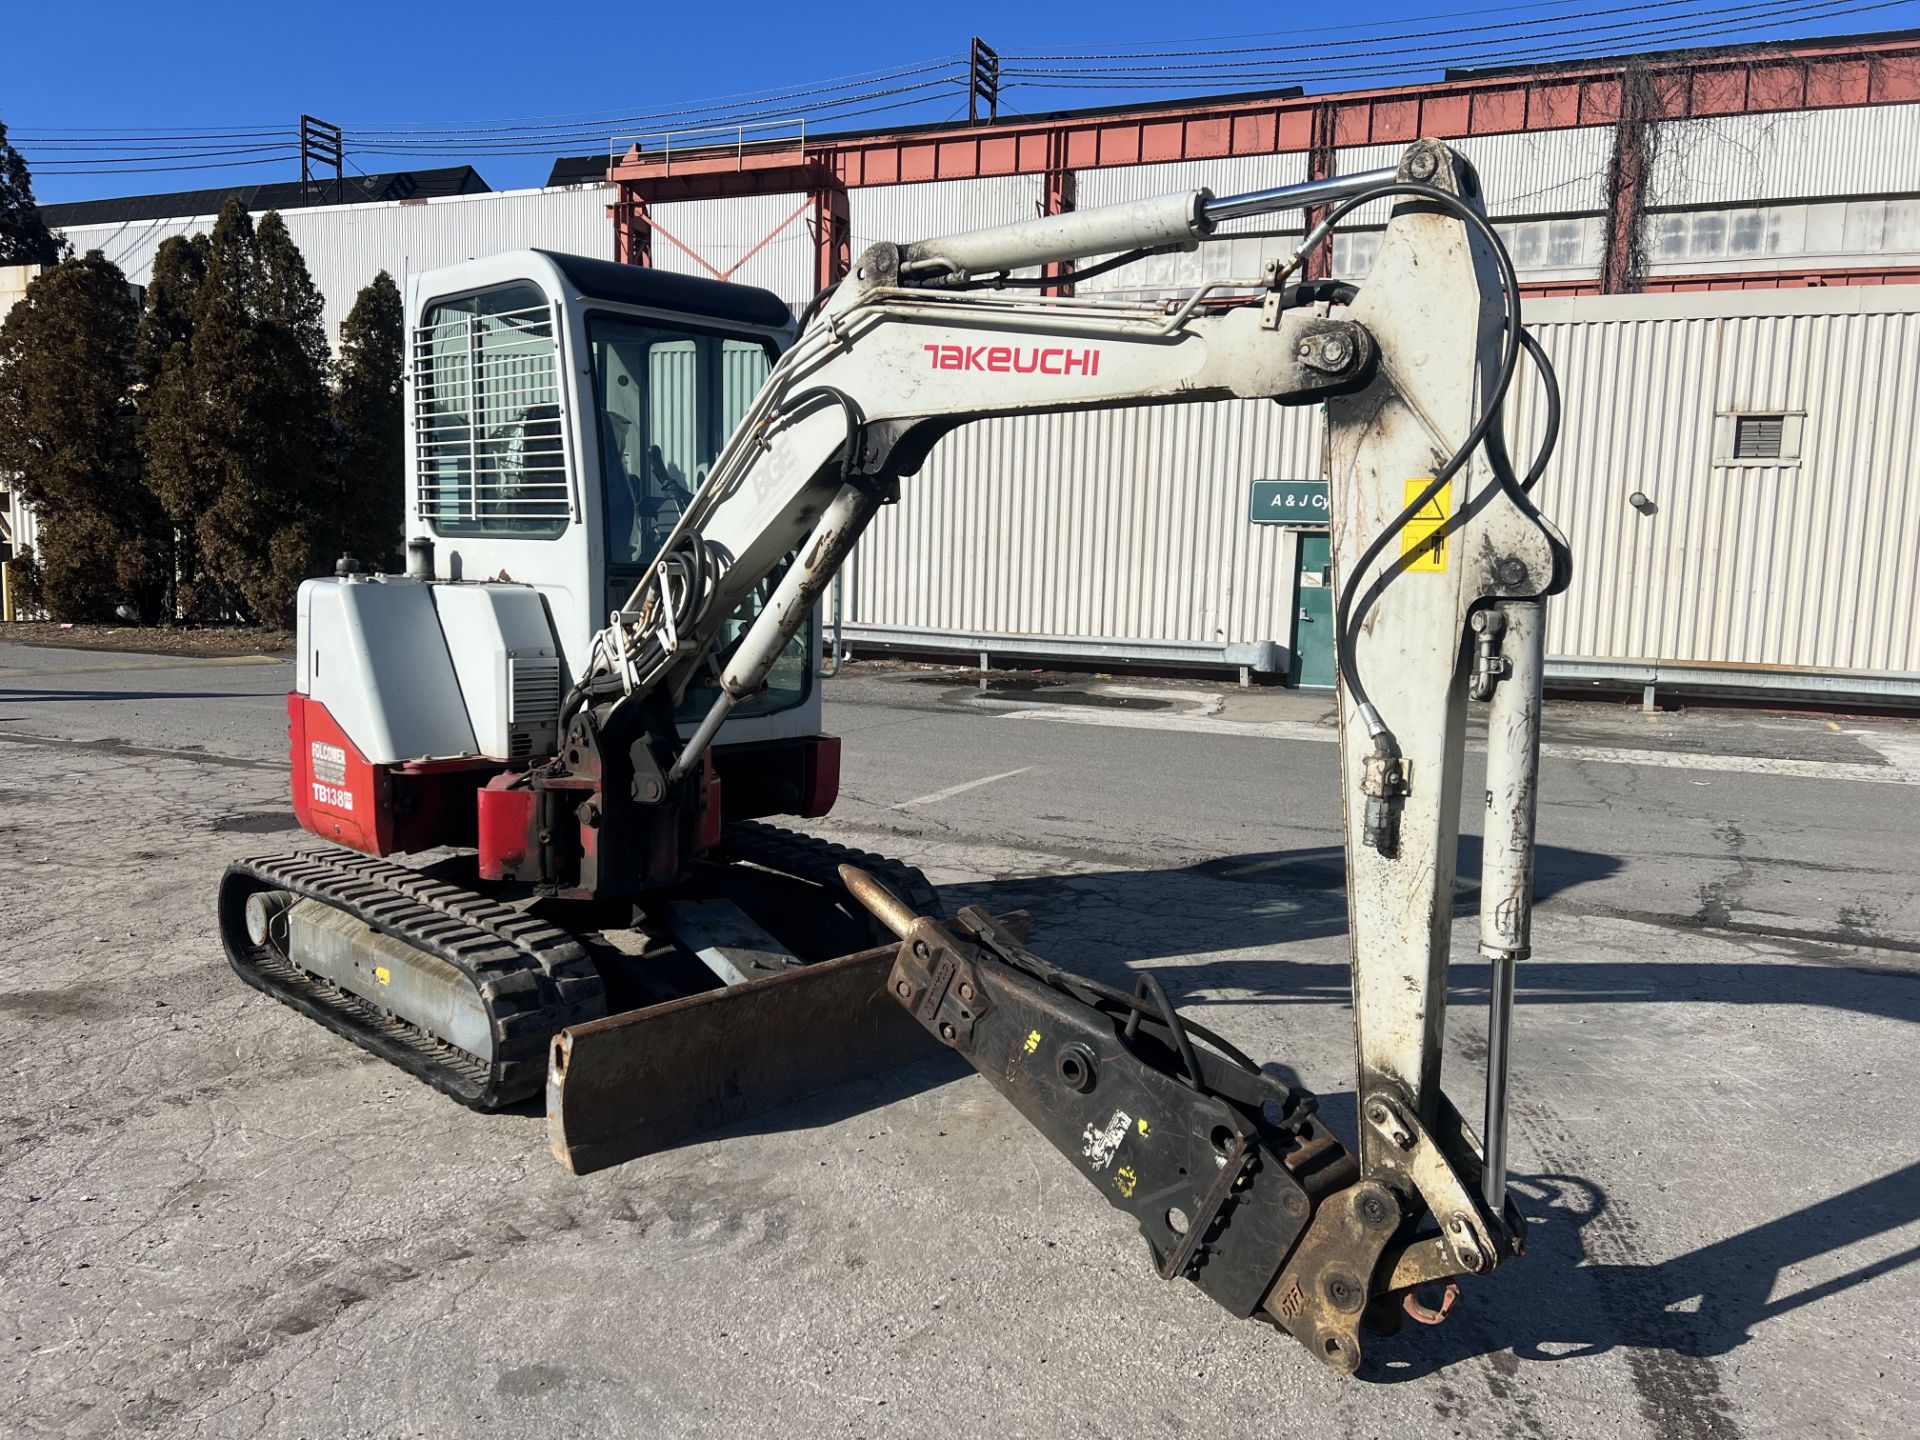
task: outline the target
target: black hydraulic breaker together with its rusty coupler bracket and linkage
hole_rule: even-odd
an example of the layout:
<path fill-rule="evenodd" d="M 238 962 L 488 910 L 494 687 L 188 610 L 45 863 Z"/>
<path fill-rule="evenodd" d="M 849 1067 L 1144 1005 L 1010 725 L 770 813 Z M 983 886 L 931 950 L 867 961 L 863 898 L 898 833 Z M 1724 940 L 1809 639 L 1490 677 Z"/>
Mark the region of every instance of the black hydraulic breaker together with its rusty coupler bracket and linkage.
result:
<path fill-rule="evenodd" d="M 1133 1215 L 1162 1279 L 1188 1279 L 1235 1315 L 1288 1331 L 1332 1371 L 1361 1361 L 1361 1327 L 1438 1323 L 1419 1286 L 1484 1273 L 1519 1252 L 1519 1215 L 1475 1208 L 1461 1188 L 1453 1231 L 1432 1233 L 1423 1181 L 1450 1140 L 1473 1148 L 1448 1108 L 1430 1137 L 1382 1100 L 1404 1165 L 1361 1177 L 1288 1087 L 1204 1025 L 1183 1020 L 1152 975 L 1133 993 L 1073 975 L 979 908 L 952 927 L 854 866 L 849 893 L 899 939 L 887 989 L 958 1050 L 1060 1154 Z M 1463 1156 L 1473 1164 L 1473 1156 Z"/>

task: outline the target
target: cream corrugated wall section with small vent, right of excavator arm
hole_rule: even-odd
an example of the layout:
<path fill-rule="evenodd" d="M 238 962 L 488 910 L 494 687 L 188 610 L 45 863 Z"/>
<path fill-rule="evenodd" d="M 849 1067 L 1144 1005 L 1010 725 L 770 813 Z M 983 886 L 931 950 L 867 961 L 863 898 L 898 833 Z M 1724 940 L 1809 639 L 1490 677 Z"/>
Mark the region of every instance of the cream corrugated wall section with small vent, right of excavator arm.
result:
<path fill-rule="evenodd" d="M 1555 300 L 1528 323 L 1567 394 L 1544 501 L 1580 564 L 1551 653 L 1920 676 L 1920 286 Z M 1743 453 L 1736 426 L 1772 417 L 1778 453 Z"/>

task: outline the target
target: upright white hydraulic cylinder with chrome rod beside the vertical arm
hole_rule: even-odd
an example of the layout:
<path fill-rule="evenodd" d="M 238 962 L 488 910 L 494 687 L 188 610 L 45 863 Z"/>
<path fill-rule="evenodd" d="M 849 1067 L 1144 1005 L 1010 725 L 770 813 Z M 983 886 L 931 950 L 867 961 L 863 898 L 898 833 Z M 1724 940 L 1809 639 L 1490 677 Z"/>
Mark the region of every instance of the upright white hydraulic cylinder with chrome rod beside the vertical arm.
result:
<path fill-rule="evenodd" d="M 1486 1016 L 1486 1164 L 1480 1192 L 1507 1204 L 1507 1054 L 1515 966 L 1532 954 L 1534 799 L 1540 780 L 1540 672 L 1546 603 L 1505 601 L 1505 676 L 1486 718 L 1486 826 L 1480 841 L 1480 954 L 1492 979 Z"/>

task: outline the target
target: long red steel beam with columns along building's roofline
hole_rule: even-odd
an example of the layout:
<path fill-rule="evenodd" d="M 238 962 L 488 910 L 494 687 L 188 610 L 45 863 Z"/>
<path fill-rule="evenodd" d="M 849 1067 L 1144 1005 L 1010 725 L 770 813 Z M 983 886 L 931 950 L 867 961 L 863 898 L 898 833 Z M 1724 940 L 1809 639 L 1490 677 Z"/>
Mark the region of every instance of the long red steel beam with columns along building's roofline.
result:
<path fill-rule="evenodd" d="M 814 278 L 826 286 L 849 265 L 849 186 L 1043 175 L 1046 209 L 1058 213 L 1073 207 L 1075 173 L 1100 165 L 1304 152 L 1308 177 L 1317 179 L 1332 173 L 1336 152 L 1344 146 L 1611 125 L 1617 144 L 1609 161 L 1601 288 L 1674 288 L 1680 282 L 1642 282 L 1632 275 L 1632 238 L 1645 180 L 1644 125 L 1912 100 L 1920 100 L 1920 38 L 1908 35 L 1718 54 L 1678 52 L 1645 58 L 1630 71 L 1619 61 L 1576 63 L 1346 94 L 1196 100 L 1148 111 L 797 140 L 793 146 L 753 150 L 664 154 L 634 148 L 609 175 L 620 186 L 611 209 L 614 253 L 632 263 L 651 263 L 647 205 L 662 200 L 803 192 L 814 196 Z M 1315 252 L 1309 273 L 1325 271 L 1327 263 L 1327 252 Z M 1048 267 L 1046 278 L 1060 290 L 1071 288 L 1069 267 Z M 1549 290 L 1578 292 L 1565 286 Z"/>

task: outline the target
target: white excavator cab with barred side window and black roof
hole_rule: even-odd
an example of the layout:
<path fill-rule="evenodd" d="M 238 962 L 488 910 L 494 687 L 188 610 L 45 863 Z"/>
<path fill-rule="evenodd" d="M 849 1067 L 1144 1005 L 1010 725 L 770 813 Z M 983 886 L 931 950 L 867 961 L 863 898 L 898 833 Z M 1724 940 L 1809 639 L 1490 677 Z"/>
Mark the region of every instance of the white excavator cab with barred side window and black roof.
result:
<path fill-rule="evenodd" d="M 766 384 L 793 317 L 753 286 L 541 250 L 413 276 L 407 313 L 409 545 L 440 580 L 532 586 L 572 680 Z M 732 626 L 753 612 L 749 601 Z M 818 645 L 808 624 L 726 743 L 818 733 Z M 684 707 L 705 712 L 699 695 Z"/>

